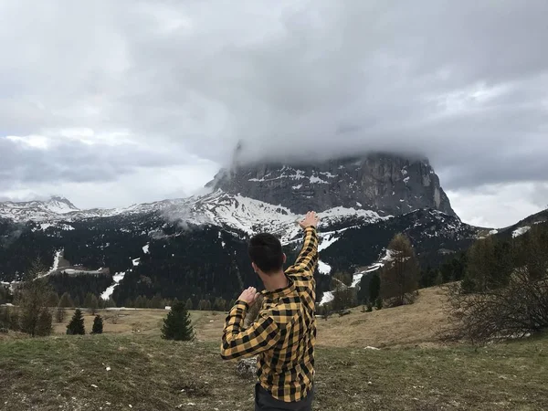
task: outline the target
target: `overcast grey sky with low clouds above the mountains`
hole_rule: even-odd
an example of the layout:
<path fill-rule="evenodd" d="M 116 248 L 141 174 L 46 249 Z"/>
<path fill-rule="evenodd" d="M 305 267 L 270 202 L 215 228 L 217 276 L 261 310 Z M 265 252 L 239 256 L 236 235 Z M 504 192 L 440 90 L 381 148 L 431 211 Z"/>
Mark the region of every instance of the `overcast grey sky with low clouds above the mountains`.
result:
<path fill-rule="evenodd" d="M 424 153 L 461 218 L 548 205 L 546 0 L 0 2 L 0 200 L 190 195 L 238 141 Z"/>

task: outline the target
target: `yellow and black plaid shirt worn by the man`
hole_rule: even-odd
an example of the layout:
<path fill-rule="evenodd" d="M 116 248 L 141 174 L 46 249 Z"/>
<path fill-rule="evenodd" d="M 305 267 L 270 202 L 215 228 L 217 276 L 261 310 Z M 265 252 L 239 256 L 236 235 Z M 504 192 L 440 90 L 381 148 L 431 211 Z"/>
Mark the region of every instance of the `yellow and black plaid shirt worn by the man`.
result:
<path fill-rule="evenodd" d="M 258 319 L 244 330 L 248 304 L 238 300 L 227 316 L 221 356 L 225 360 L 258 355 L 258 381 L 284 402 L 309 394 L 314 377 L 316 342 L 316 281 L 318 236 L 307 227 L 295 265 L 285 271 L 289 287 L 263 291 Z"/>

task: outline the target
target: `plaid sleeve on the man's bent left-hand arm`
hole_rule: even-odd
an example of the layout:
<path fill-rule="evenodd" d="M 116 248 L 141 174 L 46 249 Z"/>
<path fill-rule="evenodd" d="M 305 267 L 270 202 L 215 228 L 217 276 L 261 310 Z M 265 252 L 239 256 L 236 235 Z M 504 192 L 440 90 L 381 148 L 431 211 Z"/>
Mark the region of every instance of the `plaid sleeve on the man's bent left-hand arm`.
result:
<path fill-rule="evenodd" d="M 247 302 L 238 300 L 228 313 L 221 344 L 224 360 L 252 357 L 269 350 L 279 341 L 278 325 L 269 316 L 259 316 L 248 329 L 242 331 L 248 308 Z"/>

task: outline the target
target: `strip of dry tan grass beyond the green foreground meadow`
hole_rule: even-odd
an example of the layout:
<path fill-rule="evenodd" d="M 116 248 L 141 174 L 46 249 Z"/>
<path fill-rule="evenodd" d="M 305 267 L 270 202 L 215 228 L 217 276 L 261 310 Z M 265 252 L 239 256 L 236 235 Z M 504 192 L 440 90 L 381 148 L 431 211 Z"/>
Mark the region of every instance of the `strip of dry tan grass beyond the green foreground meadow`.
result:
<path fill-rule="evenodd" d="M 437 333 L 446 323 L 443 312 L 444 296 L 437 287 L 420 290 L 411 305 L 373 312 L 352 310 L 350 315 L 332 315 L 329 320 L 318 319 L 318 344 L 330 347 L 397 347 L 437 346 Z M 55 333 L 65 333 L 73 310 L 67 311 L 65 321 L 54 324 Z M 93 316 L 84 312 L 86 331 L 91 331 Z M 104 333 L 142 333 L 159 335 L 164 310 L 99 311 L 103 317 Z M 225 312 L 191 311 L 198 341 L 220 341 L 226 318 Z"/>

